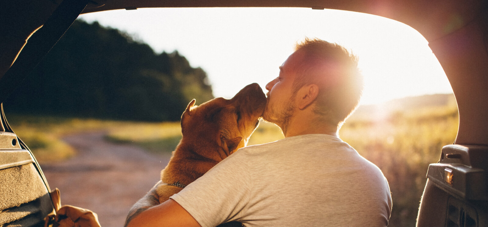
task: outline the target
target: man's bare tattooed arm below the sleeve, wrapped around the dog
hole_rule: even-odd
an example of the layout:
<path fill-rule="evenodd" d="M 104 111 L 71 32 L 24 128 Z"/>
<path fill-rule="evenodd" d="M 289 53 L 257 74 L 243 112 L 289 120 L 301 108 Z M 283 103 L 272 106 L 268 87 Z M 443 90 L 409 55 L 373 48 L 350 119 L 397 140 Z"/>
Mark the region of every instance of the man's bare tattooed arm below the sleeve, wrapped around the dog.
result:
<path fill-rule="evenodd" d="M 159 204 L 156 193 L 158 182 L 144 197 L 132 206 L 125 227 L 201 227 L 182 206 L 172 199 Z"/>

